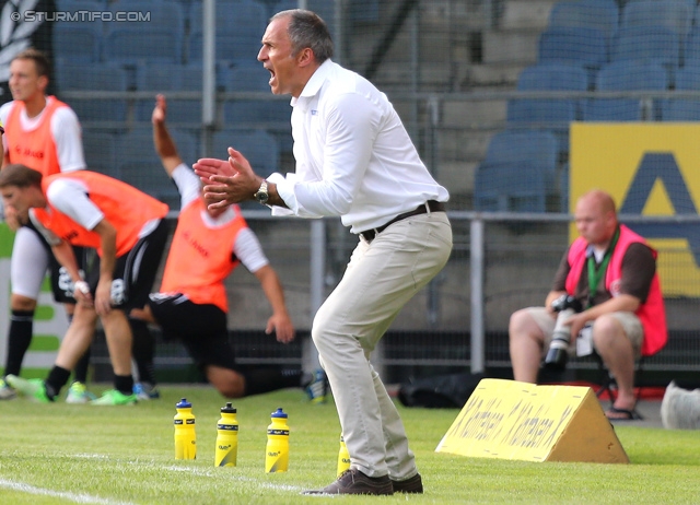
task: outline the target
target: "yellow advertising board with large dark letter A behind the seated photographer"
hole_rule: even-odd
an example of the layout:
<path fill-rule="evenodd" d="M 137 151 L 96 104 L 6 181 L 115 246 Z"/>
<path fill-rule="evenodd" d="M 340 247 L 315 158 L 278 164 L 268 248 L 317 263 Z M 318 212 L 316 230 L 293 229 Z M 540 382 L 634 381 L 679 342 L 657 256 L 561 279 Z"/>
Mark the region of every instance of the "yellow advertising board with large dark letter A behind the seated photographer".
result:
<path fill-rule="evenodd" d="M 569 204 L 593 188 L 612 195 L 620 214 L 697 215 L 700 124 L 574 122 Z M 700 226 L 629 223 L 660 251 L 665 296 L 700 296 Z M 571 228 L 571 239 L 578 236 Z"/>

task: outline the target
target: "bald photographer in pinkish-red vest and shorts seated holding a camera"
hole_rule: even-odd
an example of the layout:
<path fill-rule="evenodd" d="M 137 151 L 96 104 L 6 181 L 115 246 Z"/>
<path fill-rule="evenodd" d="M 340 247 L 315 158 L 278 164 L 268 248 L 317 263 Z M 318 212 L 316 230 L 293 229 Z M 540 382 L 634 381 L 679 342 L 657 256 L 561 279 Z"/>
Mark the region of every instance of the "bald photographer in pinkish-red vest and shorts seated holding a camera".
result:
<path fill-rule="evenodd" d="M 615 202 L 605 191 L 583 195 L 574 219 L 580 236 L 559 265 L 545 307 L 524 308 L 511 316 L 513 375 L 515 380 L 536 383 L 542 356 L 546 365 L 563 367 L 586 327 L 579 344 L 585 345 L 587 332 L 618 386 L 606 415 L 634 419 L 634 361 L 654 354 L 667 340 L 656 251 L 618 223 Z"/>

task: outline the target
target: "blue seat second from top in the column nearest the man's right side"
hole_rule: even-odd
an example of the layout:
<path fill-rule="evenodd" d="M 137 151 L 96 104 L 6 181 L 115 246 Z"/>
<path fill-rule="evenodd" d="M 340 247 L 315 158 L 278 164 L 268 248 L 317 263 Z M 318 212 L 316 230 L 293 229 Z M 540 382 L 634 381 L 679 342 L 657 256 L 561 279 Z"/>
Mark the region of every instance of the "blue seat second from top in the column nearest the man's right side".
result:
<path fill-rule="evenodd" d="M 598 28 L 551 27 L 539 36 L 538 60 L 567 61 L 598 69 L 609 60 L 607 37 Z"/>

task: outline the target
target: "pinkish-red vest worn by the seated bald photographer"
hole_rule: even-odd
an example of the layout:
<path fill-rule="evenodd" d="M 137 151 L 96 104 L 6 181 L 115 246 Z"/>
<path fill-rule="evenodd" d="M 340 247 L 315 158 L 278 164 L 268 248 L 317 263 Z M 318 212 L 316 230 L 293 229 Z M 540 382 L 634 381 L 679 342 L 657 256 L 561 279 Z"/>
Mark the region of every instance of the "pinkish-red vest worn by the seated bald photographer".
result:
<path fill-rule="evenodd" d="M 605 289 L 612 296 L 619 294 L 620 282 L 622 279 L 622 258 L 627 248 L 634 243 L 641 243 L 646 246 L 646 240 L 632 232 L 630 228 L 620 225 L 620 236 L 610 257 L 607 272 L 605 273 Z M 586 247 L 588 244 L 583 237 L 579 237 L 571 244 L 569 248 L 569 275 L 567 277 L 565 287 L 569 294 L 573 294 L 579 285 L 579 279 L 584 270 L 586 261 Z M 654 258 L 656 251 L 653 250 Z M 642 326 L 644 327 L 644 340 L 642 342 L 642 355 L 651 356 L 661 351 L 668 340 L 666 329 L 666 310 L 664 309 L 664 298 L 661 292 L 661 283 L 658 281 L 658 272 L 654 273 L 652 284 L 649 289 L 646 302 L 641 304 L 635 312 Z"/>

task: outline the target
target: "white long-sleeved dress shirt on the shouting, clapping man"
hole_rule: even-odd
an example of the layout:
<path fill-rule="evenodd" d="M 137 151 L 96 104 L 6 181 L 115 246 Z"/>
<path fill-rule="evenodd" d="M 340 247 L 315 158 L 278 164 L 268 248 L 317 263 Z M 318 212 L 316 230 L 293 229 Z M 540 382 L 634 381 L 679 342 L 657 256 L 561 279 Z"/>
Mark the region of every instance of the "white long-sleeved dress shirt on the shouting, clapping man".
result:
<path fill-rule="evenodd" d="M 358 73 L 327 60 L 291 105 L 296 171 L 268 177 L 289 207 L 273 214 L 340 215 L 360 233 L 450 198 L 386 95 Z"/>

